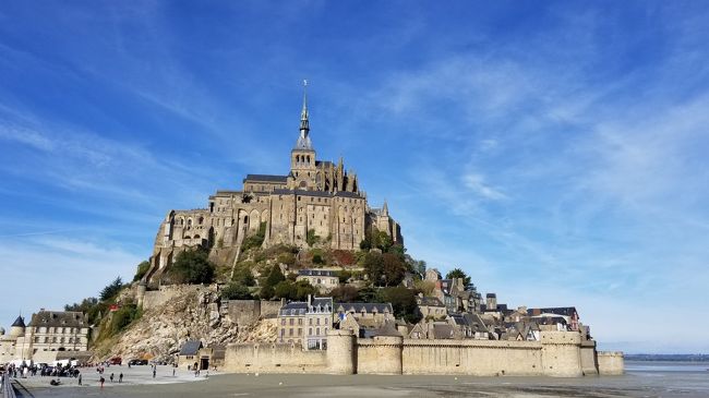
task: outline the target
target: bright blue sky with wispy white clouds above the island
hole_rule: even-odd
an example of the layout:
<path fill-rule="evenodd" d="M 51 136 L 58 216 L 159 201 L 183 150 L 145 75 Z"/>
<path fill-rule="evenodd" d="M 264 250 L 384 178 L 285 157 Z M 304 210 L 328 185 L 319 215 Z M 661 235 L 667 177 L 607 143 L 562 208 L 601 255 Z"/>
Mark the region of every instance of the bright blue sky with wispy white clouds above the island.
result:
<path fill-rule="evenodd" d="M 0 324 L 95 296 L 171 208 L 311 136 L 409 253 L 604 349 L 709 352 L 700 1 L 0 7 Z"/>

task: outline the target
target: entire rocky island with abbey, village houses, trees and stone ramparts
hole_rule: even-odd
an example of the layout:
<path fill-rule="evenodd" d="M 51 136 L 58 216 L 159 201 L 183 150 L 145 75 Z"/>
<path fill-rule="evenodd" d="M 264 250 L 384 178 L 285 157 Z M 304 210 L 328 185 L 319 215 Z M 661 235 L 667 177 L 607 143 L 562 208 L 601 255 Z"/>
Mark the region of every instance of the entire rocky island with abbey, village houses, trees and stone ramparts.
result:
<path fill-rule="evenodd" d="M 131 284 L 19 316 L 1 361 L 59 376 L 142 361 L 195 375 L 623 373 L 575 306 L 513 307 L 408 255 L 387 204 L 371 207 L 343 159 L 319 160 L 310 130 L 303 94 L 288 173 L 168 212 Z"/>

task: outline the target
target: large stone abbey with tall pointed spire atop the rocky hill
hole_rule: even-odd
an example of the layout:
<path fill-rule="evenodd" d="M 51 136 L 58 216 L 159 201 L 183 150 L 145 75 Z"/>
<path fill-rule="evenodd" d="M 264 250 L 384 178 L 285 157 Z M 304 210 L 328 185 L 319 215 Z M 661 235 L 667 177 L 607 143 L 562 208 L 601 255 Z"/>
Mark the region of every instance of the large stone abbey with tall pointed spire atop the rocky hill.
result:
<path fill-rule="evenodd" d="M 399 225 L 386 203 L 371 208 L 357 174 L 317 160 L 310 138 L 308 98 L 303 94 L 300 135 L 285 176 L 248 174 L 240 191 L 217 191 L 207 207 L 170 210 L 160 225 L 147 279 L 161 274 L 187 248 L 209 245 L 219 263 L 231 264 L 244 238 L 262 233 L 264 246 L 308 246 L 308 234 L 327 248 L 357 250 L 368 229 L 385 231 L 401 243 Z"/>

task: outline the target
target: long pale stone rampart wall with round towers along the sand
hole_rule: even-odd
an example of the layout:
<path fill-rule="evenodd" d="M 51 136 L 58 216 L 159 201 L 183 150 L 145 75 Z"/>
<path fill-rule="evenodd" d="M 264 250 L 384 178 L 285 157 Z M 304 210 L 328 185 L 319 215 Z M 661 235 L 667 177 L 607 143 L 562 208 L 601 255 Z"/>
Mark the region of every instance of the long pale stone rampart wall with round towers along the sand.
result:
<path fill-rule="evenodd" d="M 326 351 L 300 345 L 236 343 L 225 370 L 247 373 L 459 374 L 577 377 L 622 374 L 623 354 L 599 352 L 576 331 L 542 331 L 541 341 L 358 339 L 332 330 Z"/>

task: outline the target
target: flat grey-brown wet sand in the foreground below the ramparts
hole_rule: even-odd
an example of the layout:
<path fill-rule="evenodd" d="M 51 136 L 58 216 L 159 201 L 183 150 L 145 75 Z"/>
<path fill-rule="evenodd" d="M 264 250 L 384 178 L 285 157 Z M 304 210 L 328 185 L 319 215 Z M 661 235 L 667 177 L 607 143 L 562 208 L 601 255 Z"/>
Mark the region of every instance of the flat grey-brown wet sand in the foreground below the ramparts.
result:
<path fill-rule="evenodd" d="M 217 375 L 196 383 L 28 388 L 20 397 L 706 397 L 645 377 Z M 22 381 L 21 381 L 22 383 Z"/>

